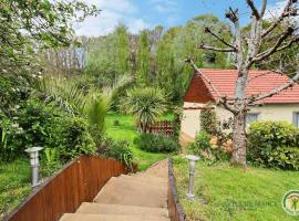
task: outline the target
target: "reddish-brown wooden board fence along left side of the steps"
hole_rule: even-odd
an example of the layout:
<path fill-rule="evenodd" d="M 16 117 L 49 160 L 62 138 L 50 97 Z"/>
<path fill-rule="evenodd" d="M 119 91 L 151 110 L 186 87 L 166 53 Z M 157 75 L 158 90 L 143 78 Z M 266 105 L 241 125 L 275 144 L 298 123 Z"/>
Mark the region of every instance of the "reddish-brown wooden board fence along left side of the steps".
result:
<path fill-rule="evenodd" d="M 82 156 L 35 189 L 6 221 L 56 221 L 92 201 L 111 177 L 125 173 L 125 166 L 113 159 Z"/>

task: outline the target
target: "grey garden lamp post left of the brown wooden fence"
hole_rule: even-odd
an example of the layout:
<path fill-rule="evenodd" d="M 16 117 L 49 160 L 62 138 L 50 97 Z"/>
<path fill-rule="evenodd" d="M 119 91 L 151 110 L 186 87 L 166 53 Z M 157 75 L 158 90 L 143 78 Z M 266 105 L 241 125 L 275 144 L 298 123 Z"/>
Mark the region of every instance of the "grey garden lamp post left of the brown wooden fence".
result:
<path fill-rule="evenodd" d="M 32 187 L 39 186 L 39 151 L 42 147 L 31 147 L 25 149 L 30 156 L 30 165 L 32 169 Z"/>

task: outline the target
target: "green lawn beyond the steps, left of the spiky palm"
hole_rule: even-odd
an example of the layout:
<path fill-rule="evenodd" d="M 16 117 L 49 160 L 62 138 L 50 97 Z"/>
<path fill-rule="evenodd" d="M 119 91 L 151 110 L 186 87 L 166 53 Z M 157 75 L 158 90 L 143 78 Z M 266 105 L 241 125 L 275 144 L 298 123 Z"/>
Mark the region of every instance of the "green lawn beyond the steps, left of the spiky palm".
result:
<path fill-rule="evenodd" d="M 166 115 L 167 119 L 172 118 L 172 115 Z M 113 123 L 114 120 L 118 120 L 120 125 L 115 126 Z M 124 139 L 130 141 L 132 151 L 134 154 L 134 159 L 138 165 L 140 170 L 144 170 L 154 162 L 166 158 L 167 155 L 165 154 L 152 154 L 145 152 L 138 149 L 134 144 L 133 140 L 137 136 L 137 131 L 135 128 L 135 123 L 133 116 L 123 116 L 123 115 L 109 115 L 106 117 L 106 133 L 110 137 L 114 139 Z"/>

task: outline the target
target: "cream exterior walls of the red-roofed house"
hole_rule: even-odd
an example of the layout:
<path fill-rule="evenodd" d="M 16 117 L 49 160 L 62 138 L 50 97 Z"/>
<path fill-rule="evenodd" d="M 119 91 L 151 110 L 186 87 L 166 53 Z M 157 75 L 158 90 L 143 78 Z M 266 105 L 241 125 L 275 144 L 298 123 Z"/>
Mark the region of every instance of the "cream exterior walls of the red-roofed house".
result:
<path fill-rule="evenodd" d="M 184 107 L 204 106 L 204 104 L 184 103 Z M 264 106 L 250 107 L 248 113 L 258 113 L 258 120 L 283 120 L 292 124 L 293 113 L 299 113 L 298 104 L 267 104 Z M 233 117 L 231 113 L 225 108 L 217 106 L 216 115 L 218 120 L 224 122 Z M 195 137 L 200 130 L 200 109 L 185 109 L 183 112 L 182 131 Z"/>

